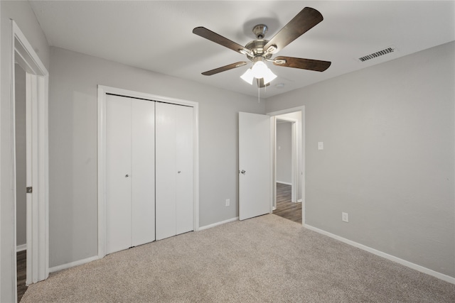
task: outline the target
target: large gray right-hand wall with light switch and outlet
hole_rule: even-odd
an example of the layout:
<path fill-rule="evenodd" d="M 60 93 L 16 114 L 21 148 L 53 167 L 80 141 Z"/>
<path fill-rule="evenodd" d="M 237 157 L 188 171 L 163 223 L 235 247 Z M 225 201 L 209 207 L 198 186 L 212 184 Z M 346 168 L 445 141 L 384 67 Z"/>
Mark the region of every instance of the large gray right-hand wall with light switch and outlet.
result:
<path fill-rule="evenodd" d="M 305 105 L 306 224 L 455 277 L 454 54 L 447 43 L 269 98 L 267 112 Z"/>

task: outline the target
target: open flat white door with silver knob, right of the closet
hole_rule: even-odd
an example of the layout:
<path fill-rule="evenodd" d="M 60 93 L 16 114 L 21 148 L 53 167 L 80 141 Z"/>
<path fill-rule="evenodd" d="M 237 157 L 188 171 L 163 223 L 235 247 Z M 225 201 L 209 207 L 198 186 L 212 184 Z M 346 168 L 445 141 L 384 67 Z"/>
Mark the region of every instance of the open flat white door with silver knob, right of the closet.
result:
<path fill-rule="evenodd" d="M 270 117 L 239 113 L 239 219 L 271 211 Z"/>

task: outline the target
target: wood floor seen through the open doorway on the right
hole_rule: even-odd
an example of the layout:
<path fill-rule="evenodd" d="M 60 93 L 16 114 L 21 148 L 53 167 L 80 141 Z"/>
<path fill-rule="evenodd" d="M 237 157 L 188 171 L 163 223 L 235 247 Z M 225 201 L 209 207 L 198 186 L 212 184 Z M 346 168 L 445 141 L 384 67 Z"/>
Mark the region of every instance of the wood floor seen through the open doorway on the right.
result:
<path fill-rule="evenodd" d="M 291 185 L 277 183 L 277 209 L 273 214 L 301 224 L 301 203 L 291 202 Z"/>

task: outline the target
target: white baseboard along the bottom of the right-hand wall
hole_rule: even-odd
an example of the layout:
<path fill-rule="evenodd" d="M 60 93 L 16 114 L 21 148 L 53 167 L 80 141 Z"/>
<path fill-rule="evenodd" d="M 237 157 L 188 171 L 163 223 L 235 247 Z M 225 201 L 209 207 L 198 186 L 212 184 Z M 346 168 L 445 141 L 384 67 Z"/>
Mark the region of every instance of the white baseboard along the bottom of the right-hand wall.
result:
<path fill-rule="evenodd" d="M 387 260 L 391 260 L 391 261 L 399 263 L 401 265 L 405 265 L 408 268 L 412 268 L 413 270 L 417 270 L 419 272 L 424 272 L 427 275 L 432 275 L 433 277 L 437 277 L 438 279 L 444 280 L 444 281 L 449 282 L 451 284 L 455 284 L 455 277 L 451 277 L 449 275 L 444 275 L 441 272 L 430 270 L 429 268 L 424 268 L 421 265 L 417 265 L 417 264 L 409 262 L 407 260 L 400 259 L 398 257 L 395 257 L 394 255 L 389 255 L 388 253 L 384 253 L 384 252 L 382 252 L 380 250 L 376 250 L 375 248 L 370 248 L 369 246 L 365 246 L 365 245 L 357 243 L 355 241 L 351 241 L 351 240 L 348 240 L 348 239 L 343 238 L 341 236 L 337 236 L 337 235 L 335 235 L 333 233 L 329 233 L 328 231 L 323 231 L 322 229 L 316 228 L 316 227 L 311 226 L 311 225 L 305 224 L 304 227 L 308 228 L 311 231 L 316 231 L 316 233 L 321 233 L 324 236 L 328 236 L 328 237 L 334 238 L 334 239 L 336 239 L 338 241 L 341 241 L 343 243 L 349 244 L 350 246 L 354 246 L 356 248 L 360 248 L 362 250 L 368 251 L 368 253 L 373 253 L 375 255 L 379 255 L 382 258 L 386 258 Z"/>

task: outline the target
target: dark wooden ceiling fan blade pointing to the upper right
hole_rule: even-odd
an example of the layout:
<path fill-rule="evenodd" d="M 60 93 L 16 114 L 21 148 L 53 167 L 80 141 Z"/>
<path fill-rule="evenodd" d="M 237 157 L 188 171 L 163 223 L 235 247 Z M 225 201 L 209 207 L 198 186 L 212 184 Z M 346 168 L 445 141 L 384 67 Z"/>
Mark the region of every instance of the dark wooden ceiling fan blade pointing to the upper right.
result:
<path fill-rule="evenodd" d="M 303 33 L 309 31 L 323 20 L 323 17 L 316 9 L 306 7 L 297 13 L 297 15 L 287 23 L 269 42 L 264 46 L 267 50 L 270 46 L 276 45 L 277 49 L 272 53 L 277 53 L 286 45 L 299 38 Z"/>

